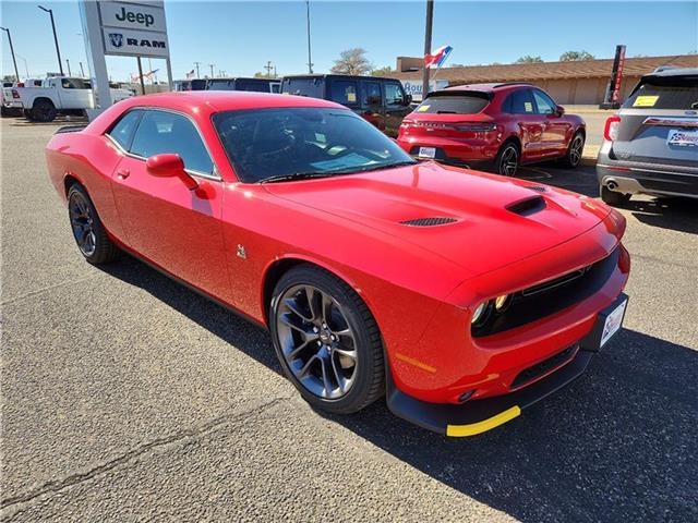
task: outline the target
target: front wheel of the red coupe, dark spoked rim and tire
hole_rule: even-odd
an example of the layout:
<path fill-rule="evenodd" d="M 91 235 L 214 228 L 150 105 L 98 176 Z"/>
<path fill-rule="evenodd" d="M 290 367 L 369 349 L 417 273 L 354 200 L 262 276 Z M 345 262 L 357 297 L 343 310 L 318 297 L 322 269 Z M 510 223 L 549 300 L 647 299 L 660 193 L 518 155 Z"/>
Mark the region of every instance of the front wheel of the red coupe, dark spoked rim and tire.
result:
<path fill-rule="evenodd" d="M 378 327 L 330 272 L 312 265 L 286 272 L 274 290 L 269 327 L 286 376 L 312 405 L 349 414 L 383 394 Z"/>

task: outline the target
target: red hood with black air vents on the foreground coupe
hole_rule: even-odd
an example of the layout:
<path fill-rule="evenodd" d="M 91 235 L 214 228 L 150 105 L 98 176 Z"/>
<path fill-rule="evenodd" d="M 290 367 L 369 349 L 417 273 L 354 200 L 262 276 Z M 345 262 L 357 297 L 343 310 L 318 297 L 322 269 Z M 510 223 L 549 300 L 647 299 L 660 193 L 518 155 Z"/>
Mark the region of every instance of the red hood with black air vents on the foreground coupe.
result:
<path fill-rule="evenodd" d="M 435 162 L 264 186 L 400 238 L 459 265 L 469 277 L 569 241 L 610 212 L 582 195 Z"/>

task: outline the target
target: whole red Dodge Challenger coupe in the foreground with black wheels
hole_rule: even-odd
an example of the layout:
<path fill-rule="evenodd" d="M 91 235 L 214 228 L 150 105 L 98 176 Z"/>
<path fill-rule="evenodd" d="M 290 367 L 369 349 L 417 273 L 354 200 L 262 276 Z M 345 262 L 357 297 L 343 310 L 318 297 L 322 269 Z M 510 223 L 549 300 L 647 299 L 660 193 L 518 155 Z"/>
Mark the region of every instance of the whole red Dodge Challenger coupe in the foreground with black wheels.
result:
<path fill-rule="evenodd" d="M 577 378 L 623 321 L 618 212 L 418 163 L 330 101 L 137 97 L 46 154 L 87 262 L 123 250 L 267 327 L 330 412 L 385 394 L 422 427 L 479 434 Z"/>

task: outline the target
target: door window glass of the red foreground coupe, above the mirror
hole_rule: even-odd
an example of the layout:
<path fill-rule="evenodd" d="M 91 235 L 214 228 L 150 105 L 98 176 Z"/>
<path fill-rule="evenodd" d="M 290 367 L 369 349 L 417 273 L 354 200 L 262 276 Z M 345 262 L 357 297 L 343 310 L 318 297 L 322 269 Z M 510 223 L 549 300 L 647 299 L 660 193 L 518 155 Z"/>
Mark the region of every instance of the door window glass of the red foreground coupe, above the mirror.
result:
<path fill-rule="evenodd" d="M 131 153 L 143 158 L 165 153 L 182 157 L 191 171 L 210 174 L 214 163 L 194 124 L 181 114 L 144 111 L 133 137 Z"/>

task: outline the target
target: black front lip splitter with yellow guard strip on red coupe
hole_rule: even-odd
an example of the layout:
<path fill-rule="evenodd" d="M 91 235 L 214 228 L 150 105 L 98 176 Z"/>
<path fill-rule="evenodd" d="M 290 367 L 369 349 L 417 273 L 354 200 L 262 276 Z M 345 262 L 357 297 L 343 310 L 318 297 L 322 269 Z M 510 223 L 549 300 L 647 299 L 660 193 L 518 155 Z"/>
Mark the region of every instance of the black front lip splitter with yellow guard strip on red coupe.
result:
<path fill-rule="evenodd" d="M 627 295 L 621 293 L 610 306 L 599 313 L 594 327 L 573 348 L 575 352 L 570 360 L 515 392 L 472 400 L 460 405 L 430 403 L 401 392 L 395 386 L 388 370 L 386 394 L 388 409 L 398 417 L 446 436 L 474 436 L 491 430 L 517 417 L 525 409 L 581 376 L 594 353 L 600 350 L 607 315 L 625 300 Z"/>

